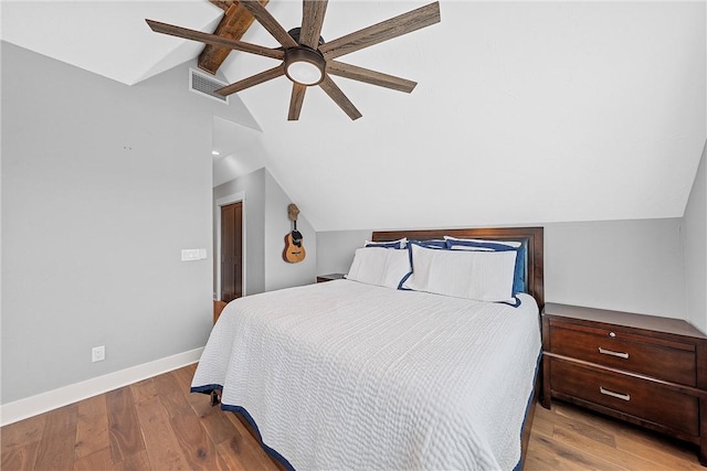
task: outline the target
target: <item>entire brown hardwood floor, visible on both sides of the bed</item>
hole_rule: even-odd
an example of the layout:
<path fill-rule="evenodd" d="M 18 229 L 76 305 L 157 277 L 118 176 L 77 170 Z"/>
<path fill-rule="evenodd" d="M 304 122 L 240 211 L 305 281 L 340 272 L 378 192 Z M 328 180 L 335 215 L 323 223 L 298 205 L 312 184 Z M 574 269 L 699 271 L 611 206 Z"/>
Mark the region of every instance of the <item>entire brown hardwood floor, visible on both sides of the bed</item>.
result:
<path fill-rule="evenodd" d="M 0 429 L 10 470 L 277 470 L 233 414 L 190 394 L 196 365 Z M 694 447 L 573 406 L 536 407 L 526 471 L 700 470 Z"/>

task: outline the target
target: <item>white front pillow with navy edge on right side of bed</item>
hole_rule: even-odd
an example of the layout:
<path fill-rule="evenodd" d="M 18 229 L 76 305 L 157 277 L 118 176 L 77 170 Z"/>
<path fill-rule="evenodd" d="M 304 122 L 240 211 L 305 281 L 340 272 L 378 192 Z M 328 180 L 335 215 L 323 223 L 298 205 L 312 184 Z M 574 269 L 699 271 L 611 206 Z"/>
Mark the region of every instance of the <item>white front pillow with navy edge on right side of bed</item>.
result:
<path fill-rule="evenodd" d="M 411 246 L 412 276 L 403 288 L 477 301 L 514 303 L 516 250 L 435 250 Z"/>

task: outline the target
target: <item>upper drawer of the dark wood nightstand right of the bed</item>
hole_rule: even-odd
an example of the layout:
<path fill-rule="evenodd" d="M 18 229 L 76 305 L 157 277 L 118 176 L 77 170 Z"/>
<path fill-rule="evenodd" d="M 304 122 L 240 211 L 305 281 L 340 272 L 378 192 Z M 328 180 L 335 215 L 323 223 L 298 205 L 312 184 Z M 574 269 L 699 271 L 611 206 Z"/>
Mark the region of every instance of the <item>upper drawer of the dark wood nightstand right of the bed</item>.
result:
<path fill-rule="evenodd" d="M 550 352 L 599 365 L 697 385 L 695 346 L 582 325 L 550 325 Z"/>

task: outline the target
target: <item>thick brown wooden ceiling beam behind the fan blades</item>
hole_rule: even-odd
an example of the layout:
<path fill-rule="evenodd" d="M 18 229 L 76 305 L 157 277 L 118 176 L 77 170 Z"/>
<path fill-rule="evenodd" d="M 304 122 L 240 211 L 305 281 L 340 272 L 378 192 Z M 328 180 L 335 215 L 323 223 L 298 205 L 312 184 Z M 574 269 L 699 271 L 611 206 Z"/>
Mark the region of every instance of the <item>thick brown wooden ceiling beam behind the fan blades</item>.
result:
<path fill-rule="evenodd" d="M 240 41 L 251 24 L 253 24 L 253 21 L 255 21 L 255 18 L 253 18 L 253 15 L 238 0 L 209 1 L 224 10 L 223 18 L 213 32 L 215 35 Z M 258 3 L 265 7 L 268 1 L 270 0 L 258 0 Z M 221 64 L 223 64 L 223 61 L 225 61 L 231 51 L 232 50 L 228 47 L 207 44 L 203 51 L 201 51 L 201 54 L 199 54 L 199 68 L 215 75 L 217 71 Z"/>

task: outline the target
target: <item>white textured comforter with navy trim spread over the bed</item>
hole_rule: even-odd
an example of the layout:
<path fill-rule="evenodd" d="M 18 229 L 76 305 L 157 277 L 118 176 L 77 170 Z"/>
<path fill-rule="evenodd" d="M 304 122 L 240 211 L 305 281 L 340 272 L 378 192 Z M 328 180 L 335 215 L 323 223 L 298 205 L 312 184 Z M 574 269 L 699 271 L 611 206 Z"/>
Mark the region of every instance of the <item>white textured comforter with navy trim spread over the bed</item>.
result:
<path fill-rule="evenodd" d="M 192 387 L 223 387 L 296 470 L 513 469 L 538 308 L 337 280 L 238 299 Z"/>

